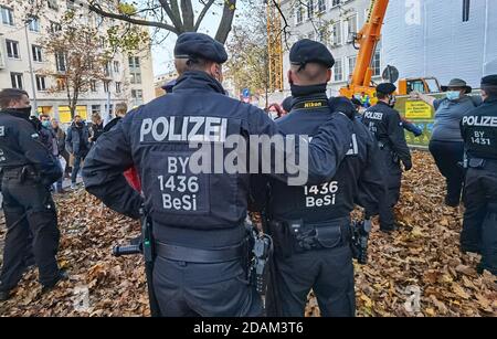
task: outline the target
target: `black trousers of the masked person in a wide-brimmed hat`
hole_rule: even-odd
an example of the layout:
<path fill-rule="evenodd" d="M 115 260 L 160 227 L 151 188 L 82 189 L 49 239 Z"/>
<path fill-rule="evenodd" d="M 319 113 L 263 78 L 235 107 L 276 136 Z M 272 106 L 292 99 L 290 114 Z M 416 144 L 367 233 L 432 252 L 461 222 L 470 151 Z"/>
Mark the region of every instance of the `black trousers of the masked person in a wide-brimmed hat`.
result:
<path fill-rule="evenodd" d="M 446 179 L 447 194 L 445 204 L 457 206 L 464 183 L 464 169 L 458 165 L 464 157 L 464 142 L 430 141 L 430 152 L 435 159 L 436 167 Z"/>

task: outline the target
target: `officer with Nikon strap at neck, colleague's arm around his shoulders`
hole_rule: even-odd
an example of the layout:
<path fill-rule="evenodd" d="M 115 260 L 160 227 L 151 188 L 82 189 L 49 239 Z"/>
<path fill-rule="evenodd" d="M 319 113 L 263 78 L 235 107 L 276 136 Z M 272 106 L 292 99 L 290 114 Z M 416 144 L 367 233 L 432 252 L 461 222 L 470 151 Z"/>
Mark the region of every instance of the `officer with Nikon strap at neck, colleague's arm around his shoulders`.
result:
<path fill-rule="evenodd" d="M 294 100 L 290 114 L 277 120 L 283 133 L 314 137 L 335 114 L 356 113 L 347 98 L 328 102 L 326 87 L 335 61 L 324 44 L 300 40 L 292 47 L 289 60 Z M 331 180 L 305 187 L 269 180 L 266 213 L 276 244 L 274 286 L 268 287 L 266 299 L 271 316 L 304 316 L 310 289 L 322 316 L 355 316 L 350 212 L 360 186 L 369 190 L 361 197 L 372 197 L 370 201 L 362 200 L 368 206 L 384 194 L 378 151 L 373 136 L 355 120 L 349 151 Z M 254 182 L 253 194 L 258 195 L 265 186 Z M 258 197 L 256 200 L 263 201 Z"/>

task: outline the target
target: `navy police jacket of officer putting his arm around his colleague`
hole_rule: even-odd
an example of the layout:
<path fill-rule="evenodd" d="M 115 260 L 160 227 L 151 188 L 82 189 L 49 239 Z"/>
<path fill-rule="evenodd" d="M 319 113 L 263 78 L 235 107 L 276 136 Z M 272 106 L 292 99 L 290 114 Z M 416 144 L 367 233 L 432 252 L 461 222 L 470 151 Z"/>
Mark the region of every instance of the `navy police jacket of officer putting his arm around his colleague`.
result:
<path fill-rule="evenodd" d="M 332 178 L 349 148 L 350 128 L 351 121 L 345 116 L 335 117 L 321 128 L 309 144 L 309 178 Z M 85 188 L 116 211 L 137 216 L 141 198 L 121 176 L 134 165 L 157 239 L 171 243 L 176 237 L 184 244 L 195 237 L 194 245 L 225 245 L 224 236 L 205 236 L 204 232 L 236 229 L 240 241 L 250 176 L 230 174 L 222 168 L 221 172 L 209 173 L 214 166 L 222 167 L 222 159 L 210 161 L 211 153 L 214 148 L 222 156 L 232 152 L 225 145 L 230 136 L 248 138 L 277 133 L 262 109 L 225 96 L 221 84 L 207 73 L 186 72 L 172 94 L 129 113 L 101 136 L 85 161 Z M 190 148 L 190 141 L 195 147 Z M 203 156 L 203 160 L 198 156 Z M 189 161 L 208 168 L 192 172 Z M 171 227 L 186 232 L 171 232 Z"/>

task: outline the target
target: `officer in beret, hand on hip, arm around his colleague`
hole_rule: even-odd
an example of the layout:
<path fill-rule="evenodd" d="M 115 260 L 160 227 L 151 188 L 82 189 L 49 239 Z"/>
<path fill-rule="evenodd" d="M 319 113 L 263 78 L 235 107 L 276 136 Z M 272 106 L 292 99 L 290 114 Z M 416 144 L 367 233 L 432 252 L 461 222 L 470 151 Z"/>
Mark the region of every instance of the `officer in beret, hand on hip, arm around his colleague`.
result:
<path fill-rule="evenodd" d="M 162 316 L 258 316 L 261 299 L 242 259 L 250 176 L 198 173 L 188 162 L 198 155 L 210 160 L 208 147 L 222 147 L 231 136 L 273 136 L 277 128 L 263 110 L 224 94 L 222 44 L 183 33 L 175 55 L 180 77 L 172 94 L 129 113 L 101 137 L 85 161 L 85 187 L 138 218 L 144 199 L 121 176 L 136 166 L 154 223 L 154 290 Z M 322 125 L 309 142 L 309 180 L 331 178 L 350 139 L 350 118 L 336 115 Z M 205 148 L 191 148 L 192 141 Z"/>

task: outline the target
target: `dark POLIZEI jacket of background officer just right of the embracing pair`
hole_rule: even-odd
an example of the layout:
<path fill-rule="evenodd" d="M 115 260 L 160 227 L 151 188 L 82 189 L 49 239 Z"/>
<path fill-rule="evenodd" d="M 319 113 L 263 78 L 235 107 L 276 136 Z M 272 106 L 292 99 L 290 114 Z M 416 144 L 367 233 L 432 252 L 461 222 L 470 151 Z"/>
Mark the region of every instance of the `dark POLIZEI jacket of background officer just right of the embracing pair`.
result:
<path fill-rule="evenodd" d="M 402 162 L 411 162 L 411 152 L 399 112 L 383 102 L 378 102 L 366 110 L 362 123 L 373 133 L 381 147 L 393 150 Z"/>

